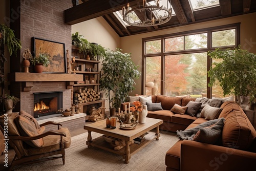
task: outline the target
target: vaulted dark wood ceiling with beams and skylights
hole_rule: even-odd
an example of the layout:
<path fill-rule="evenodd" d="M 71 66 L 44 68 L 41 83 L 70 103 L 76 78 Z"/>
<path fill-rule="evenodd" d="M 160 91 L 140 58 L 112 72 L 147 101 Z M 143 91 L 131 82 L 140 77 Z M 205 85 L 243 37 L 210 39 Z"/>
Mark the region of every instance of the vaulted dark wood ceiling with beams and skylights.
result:
<path fill-rule="evenodd" d="M 140 1 L 142 2 L 142 0 Z M 149 1 L 153 0 L 147 0 L 147 2 Z M 126 6 L 126 2 L 130 3 L 130 7 L 133 8 L 137 5 L 138 0 L 82 0 L 80 2 L 79 5 L 65 10 L 66 24 L 74 25 L 102 16 L 120 37 L 256 12 L 255 0 L 219 0 L 220 5 L 218 6 L 194 11 L 189 4 L 189 0 L 172 0 L 170 3 L 175 15 L 172 16 L 169 22 L 154 27 L 136 27 L 125 26 L 114 12 Z"/>

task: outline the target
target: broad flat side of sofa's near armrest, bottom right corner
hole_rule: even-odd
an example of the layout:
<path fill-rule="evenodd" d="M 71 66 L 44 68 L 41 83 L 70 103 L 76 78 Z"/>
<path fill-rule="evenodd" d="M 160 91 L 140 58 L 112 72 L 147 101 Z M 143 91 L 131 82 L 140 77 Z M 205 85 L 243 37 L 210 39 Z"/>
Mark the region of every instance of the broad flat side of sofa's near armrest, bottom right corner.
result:
<path fill-rule="evenodd" d="M 256 153 L 184 140 L 180 170 L 256 170 Z"/>

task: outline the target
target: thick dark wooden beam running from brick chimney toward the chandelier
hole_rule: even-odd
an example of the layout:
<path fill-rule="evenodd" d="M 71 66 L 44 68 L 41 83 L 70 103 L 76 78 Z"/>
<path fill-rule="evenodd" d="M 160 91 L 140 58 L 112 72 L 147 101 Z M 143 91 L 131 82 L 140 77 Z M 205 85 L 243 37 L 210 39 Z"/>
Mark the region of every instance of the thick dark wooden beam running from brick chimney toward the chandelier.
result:
<path fill-rule="evenodd" d="M 136 0 L 128 0 L 127 2 L 130 3 L 131 6 L 136 4 Z M 69 25 L 81 23 L 89 19 L 93 19 L 99 16 L 119 11 L 122 9 L 124 5 L 126 5 L 126 1 L 87 1 L 82 4 L 79 4 L 78 6 L 65 10 L 65 23 Z"/>

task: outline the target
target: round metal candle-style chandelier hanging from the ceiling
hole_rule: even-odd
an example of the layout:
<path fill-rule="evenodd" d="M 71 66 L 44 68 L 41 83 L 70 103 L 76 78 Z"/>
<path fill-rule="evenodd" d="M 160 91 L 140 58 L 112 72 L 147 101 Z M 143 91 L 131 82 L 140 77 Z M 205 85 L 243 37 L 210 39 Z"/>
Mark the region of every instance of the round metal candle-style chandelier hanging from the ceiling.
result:
<path fill-rule="evenodd" d="M 130 8 L 130 4 L 126 2 L 126 8 L 124 6 L 122 8 L 124 22 L 137 27 L 151 27 L 167 23 L 172 18 L 172 8 L 168 9 L 168 0 L 166 0 L 167 8 L 160 6 L 160 0 L 154 2 L 155 4 L 152 5 L 143 0 L 143 4 L 140 4 L 138 0 L 138 6 L 133 8 Z M 135 14 L 139 13 L 143 16 L 139 17 L 138 21 L 134 20 Z"/>

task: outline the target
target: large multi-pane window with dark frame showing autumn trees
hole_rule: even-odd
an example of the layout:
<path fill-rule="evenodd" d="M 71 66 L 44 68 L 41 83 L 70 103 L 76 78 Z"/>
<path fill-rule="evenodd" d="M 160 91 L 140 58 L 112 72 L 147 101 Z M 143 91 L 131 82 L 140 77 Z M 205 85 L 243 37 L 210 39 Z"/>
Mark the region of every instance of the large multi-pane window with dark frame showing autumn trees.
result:
<path fill-rule="evenodd" d="M 209 50 L 239 45 L 239 24 L 207 28 L 175 35 L 144 38 L 144 94 L 151 95 L 148 82 L 155 82 L 157 94 L 166 96 L 223 97 L 218 83 L 208 88 Z M 216 59 L 212 59 L 216 60 Z"/>

